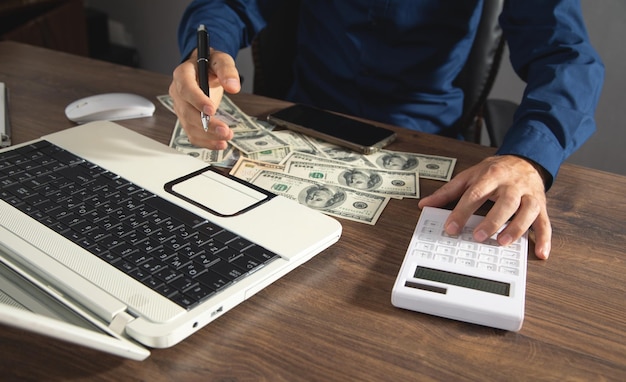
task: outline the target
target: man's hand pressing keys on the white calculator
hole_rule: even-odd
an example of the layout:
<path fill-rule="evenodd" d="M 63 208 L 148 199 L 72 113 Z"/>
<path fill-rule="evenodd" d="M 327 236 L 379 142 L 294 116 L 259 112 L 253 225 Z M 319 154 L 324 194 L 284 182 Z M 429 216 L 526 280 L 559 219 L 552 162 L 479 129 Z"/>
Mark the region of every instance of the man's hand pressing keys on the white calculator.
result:
<path fill-rule="evenodd" d="M 513 155 L 489 157 L 420 200 L 419 207 L 442 207 L 456 199 L 459 202 L 445 223 L 446 233 L 459 234 L 469 217 L 492 200 L 493 207 L 474 229 L 475 240 L 486 240 L 513 217 L 498 234 L 498 243 L 506 246 L 532 226 L 535 255 L 540 259 L 550 255 L 552 227 L 545 185 L 539 171 L 526 159 Z"/>

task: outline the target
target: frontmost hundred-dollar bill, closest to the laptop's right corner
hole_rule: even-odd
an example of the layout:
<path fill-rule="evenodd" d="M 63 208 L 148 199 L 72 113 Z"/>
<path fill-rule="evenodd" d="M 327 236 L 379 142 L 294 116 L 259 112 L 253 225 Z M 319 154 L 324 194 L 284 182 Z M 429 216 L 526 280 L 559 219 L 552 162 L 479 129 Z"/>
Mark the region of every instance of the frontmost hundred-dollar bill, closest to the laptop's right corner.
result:
<path fill-rule="evenodd" d="M 389 197 L 263 170 L 250 183 L 328 215 L 374 225 Z"/>

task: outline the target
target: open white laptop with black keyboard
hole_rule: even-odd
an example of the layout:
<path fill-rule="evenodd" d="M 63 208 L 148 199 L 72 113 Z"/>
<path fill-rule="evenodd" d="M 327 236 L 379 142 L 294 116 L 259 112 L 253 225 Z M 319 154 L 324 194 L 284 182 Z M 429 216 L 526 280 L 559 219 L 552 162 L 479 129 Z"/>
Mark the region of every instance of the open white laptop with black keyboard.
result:
<path fill-rule="evenodd" d="M 0 323 L 145 359 L 340 235 L 118 124 L 73 127 L 0 150 Z"/>

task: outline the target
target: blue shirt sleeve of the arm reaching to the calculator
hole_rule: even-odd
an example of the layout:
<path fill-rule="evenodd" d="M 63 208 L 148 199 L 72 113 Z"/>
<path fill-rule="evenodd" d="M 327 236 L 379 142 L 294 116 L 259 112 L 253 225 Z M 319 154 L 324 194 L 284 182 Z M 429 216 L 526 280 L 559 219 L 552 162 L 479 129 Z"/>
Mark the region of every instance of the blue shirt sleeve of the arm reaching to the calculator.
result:
<path fill-rule="evenodd" d="M 500 16 L 515 72 L 526 82 L 498 154 L 528 158 L 550 175 L 595 131 L 604 65 L 578 0 L 509 0 Z"/>

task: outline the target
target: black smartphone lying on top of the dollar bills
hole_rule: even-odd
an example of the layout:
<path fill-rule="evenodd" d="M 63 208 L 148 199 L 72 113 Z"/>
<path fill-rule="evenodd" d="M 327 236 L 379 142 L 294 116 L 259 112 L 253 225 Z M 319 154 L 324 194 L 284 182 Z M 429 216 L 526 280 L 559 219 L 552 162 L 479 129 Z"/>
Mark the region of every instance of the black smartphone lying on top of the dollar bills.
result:
<path fill-rule="evenodd" d="M 384 127 L 302 104 L 271 113 L 267 120 L 363 154 L 374 153 L 396 139 L 396 133 Z"/>

